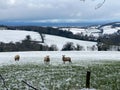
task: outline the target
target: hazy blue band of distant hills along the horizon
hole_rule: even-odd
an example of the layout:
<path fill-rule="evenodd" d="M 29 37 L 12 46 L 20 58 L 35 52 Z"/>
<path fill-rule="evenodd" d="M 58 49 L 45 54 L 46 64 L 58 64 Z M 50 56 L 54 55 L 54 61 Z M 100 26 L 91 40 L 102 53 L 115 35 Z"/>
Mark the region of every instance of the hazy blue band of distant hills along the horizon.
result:
<path fill-rule="evenodd" d="M 0 22 L 1 25 L 7 26 L 41 26 L 41 27 L 72 27 L 72 26 L 91 26 L 91 25 L 102 25 L 106 22 Z"/>

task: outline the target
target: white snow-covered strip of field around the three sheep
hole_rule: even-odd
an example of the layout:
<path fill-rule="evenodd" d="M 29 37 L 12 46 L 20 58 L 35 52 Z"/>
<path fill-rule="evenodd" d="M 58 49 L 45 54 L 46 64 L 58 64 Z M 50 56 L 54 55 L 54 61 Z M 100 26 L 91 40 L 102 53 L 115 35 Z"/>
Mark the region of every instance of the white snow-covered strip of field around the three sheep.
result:
<path fill-rule="evenodd" d="M 15 62 L 14 56 L 21 56 L 19 62 Z M 71 57 L 75 65 L 87 65 L 99 61 L 120 61 L 120 52 L 116 51 L 30 51 L 30 52 L 0 52 L 0 65 L 16 63 L 43 64 L 46 55 L 50 56 L 52 65 L 62 64 L 62 55 Z"/>

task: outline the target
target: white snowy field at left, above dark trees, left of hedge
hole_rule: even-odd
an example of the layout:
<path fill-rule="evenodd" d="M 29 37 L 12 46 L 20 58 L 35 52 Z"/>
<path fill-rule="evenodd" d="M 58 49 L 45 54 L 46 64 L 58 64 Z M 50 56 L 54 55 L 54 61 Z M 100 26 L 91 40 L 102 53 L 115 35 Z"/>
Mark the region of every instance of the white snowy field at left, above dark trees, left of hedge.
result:
<path fill-rule="evenodd" d="M 32 40 L 41 41 L 41 37 L 37 32 L 23 30 L 0 30 L 0 42 L 19 42 L 24 40 L 27 35 L 30 35 Z"/>

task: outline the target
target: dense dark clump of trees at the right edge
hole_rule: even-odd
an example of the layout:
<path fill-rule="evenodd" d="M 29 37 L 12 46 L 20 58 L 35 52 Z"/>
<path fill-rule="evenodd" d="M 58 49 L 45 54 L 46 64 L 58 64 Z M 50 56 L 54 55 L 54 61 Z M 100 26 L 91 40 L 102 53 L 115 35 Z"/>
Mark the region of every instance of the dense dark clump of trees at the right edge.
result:
<path fill-rule="evenodd" d="M 120 30 L 113 34 L 104 34 L 97 40 L 97 46 L 99 51 L 107 51 L 115 49 L 120 51 Z"/>

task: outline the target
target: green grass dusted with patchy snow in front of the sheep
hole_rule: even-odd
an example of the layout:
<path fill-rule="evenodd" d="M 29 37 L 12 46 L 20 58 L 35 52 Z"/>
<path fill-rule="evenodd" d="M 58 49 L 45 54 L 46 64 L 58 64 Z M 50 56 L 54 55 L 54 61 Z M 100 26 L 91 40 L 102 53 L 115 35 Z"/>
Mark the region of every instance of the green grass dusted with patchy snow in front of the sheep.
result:
<path fill-rule="evenodd" d="M 0 67 L 8 90 L 80 90 L 85 88 L 86 72 L 91 71 L 90 87 L 97 90 L 120 90 L 120 61 L 100 61 L 87 66 L 74 64 L 11 64 Z M 5 86 L 0 78 L 0 90 Z"/>

